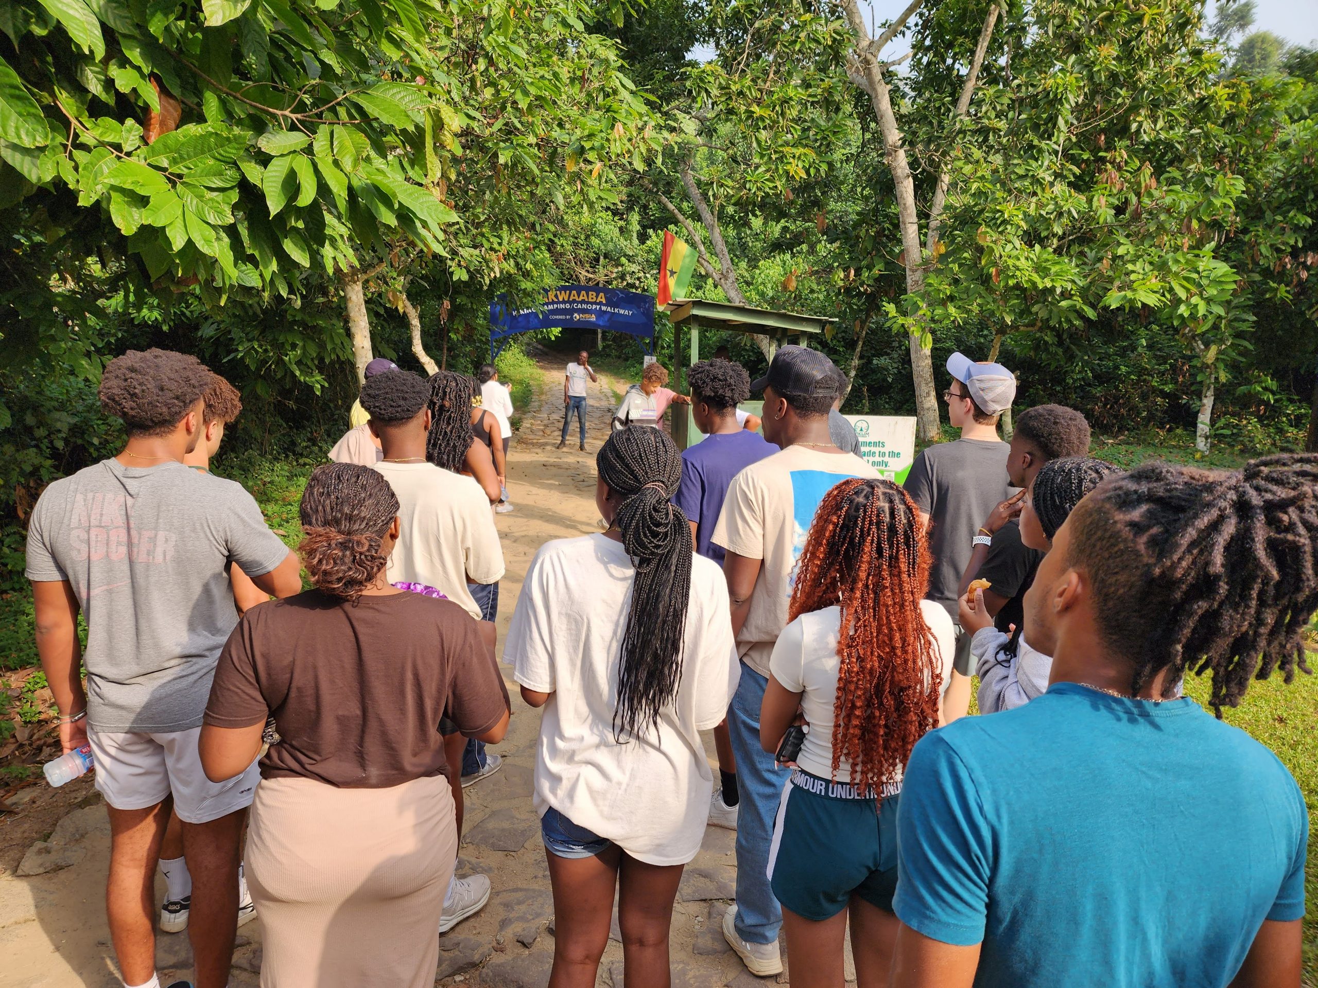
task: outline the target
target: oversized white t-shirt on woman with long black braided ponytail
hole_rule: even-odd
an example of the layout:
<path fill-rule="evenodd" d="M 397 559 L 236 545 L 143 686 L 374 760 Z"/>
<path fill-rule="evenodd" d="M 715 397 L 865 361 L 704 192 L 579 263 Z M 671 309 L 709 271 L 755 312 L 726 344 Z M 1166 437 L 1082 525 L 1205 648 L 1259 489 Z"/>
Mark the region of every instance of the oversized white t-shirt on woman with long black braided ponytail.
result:
<path fill-rule="evenodd" d="M 716 727 L 741 677 L 728 585 L 696 556 L 681 678 L 658 730 L 617 743 L 618 660 L 635 566 L 604 535 L 560 539 L 535 553 L 503 661 L 527 689 L 552 693 L 535 755 L 535 811 L 551 806 L 648 864 L 685 864 L 700 850 L 713 775 L 700 731 Z"/>

